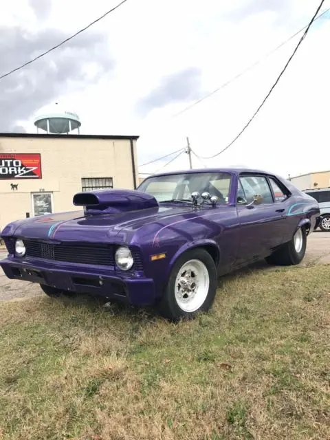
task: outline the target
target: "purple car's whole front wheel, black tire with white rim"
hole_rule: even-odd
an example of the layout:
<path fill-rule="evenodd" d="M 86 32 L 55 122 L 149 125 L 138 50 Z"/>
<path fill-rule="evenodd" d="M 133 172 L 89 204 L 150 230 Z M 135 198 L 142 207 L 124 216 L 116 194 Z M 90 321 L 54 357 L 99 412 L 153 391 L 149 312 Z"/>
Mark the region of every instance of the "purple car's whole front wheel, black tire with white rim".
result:
<path fill-rule="evenodd" d="M 175 262 L 162 299 L 159 314 L 171 321 L 192 319 L 208 311 L 217 292 L 217 269 L 210 254 L 197 248 L 188 250 Z"/>

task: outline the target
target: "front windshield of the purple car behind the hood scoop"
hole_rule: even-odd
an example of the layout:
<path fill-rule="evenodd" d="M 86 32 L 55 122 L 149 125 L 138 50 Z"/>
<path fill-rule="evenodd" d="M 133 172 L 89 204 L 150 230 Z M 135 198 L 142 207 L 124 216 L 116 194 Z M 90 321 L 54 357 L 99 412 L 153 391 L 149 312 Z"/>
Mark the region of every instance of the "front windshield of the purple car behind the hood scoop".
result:
<path fill-rule="evenodd" d="M 148 177 L 137 190 L 148 192 L 157 201 L 191 202 L 192 192 L 210 192 L 219 203 L 228 203 L 231 175 L 229 173 L 186 173 Z"/>

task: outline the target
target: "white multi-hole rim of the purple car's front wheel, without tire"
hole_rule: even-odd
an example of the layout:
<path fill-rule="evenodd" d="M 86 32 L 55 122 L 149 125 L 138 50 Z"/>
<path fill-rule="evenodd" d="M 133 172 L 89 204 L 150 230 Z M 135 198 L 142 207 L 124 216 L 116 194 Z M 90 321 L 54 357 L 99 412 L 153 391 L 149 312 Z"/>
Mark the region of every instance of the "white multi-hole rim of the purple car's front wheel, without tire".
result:
<path fill-rule="evenodd" d="M 181 266 L 175 279 L 175 300 L 182 311 L 191 313 L 203 305 L 208 296 L 210 276 L 204 263 L 190 260 Z"/>

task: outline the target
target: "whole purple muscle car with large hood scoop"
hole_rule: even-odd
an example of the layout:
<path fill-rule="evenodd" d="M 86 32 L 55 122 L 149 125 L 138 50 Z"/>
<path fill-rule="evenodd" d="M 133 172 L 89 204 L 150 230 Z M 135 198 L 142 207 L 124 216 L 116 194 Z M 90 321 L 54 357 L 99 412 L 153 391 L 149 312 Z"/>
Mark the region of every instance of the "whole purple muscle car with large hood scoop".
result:
<path fill-rule="evenodd" d="M 250 169 L 153 175 L 137 190 L 79 192 L 73 203 L 82 210 L 4 228 L 6 276 L 49 296 L 155 304 L 170 320 L 208 311 L 218 276 L 260 259 L 300 263 L 320 215 L 289 181 Z"/>

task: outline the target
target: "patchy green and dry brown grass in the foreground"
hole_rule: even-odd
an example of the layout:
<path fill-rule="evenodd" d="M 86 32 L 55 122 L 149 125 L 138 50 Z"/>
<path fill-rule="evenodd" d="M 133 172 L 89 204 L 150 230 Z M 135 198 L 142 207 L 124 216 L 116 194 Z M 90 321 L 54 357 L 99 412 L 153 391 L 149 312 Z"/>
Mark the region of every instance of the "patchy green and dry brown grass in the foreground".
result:
<path fill-rule="evenodd" d="M 0 439 L 330 439 L 329 273 L 241 272 L 179 325 L 1 303 Z"/>

